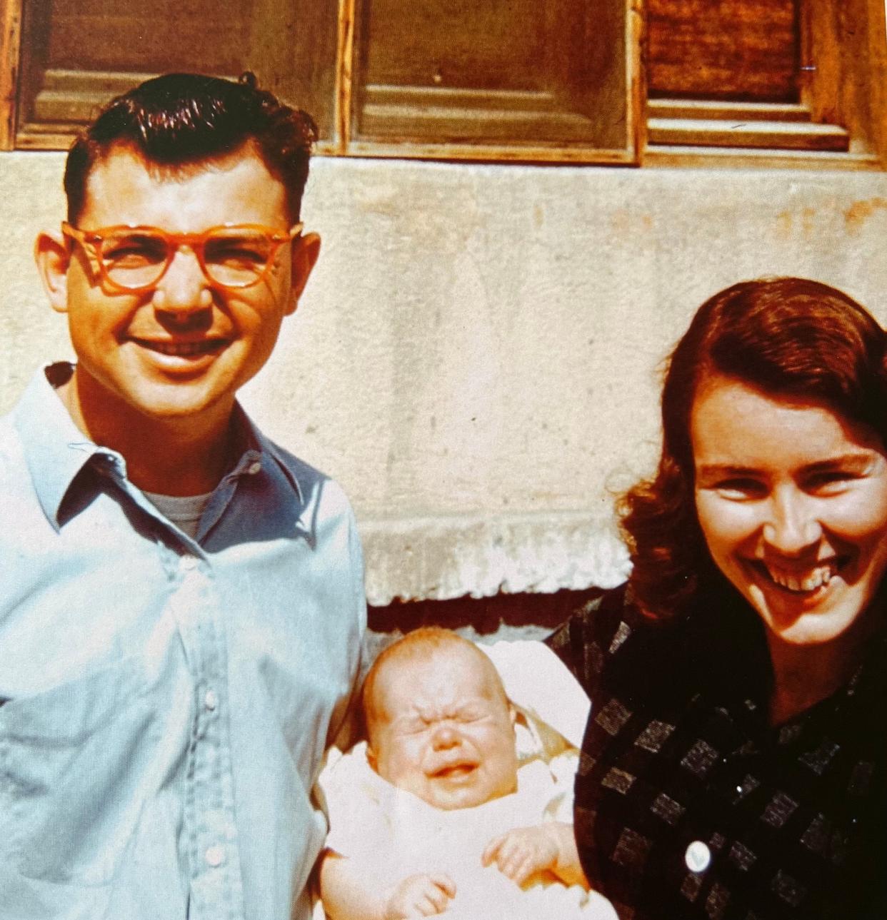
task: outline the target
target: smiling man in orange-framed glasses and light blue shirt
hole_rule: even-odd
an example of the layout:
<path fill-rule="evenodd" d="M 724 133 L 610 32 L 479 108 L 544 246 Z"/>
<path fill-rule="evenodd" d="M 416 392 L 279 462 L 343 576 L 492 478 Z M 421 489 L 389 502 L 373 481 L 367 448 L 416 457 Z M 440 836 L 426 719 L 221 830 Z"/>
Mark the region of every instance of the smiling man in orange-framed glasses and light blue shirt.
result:
<path fill-rule="evenodd" d="M 167 75 L 68 156 L 36 256 L 77 362 L 0 428 L 3 920 L 310 913 L 360 546 L 236 391 L 317 259 L 314 135 L 251 75 Z"/>

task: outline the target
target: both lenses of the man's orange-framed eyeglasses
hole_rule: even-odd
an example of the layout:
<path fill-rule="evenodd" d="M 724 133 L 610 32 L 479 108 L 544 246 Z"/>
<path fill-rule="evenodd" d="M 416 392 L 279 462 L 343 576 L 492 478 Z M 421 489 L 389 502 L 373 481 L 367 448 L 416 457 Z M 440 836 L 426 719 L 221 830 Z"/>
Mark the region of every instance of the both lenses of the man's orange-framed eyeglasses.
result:
<path fill-rule="evenodd" d="M 198 259 L 210 281 L 233 287 L 256 282 L 274 255 L 275 243 L 259 230 L 222 227 L 195 244 Z M 202 249 L 202 252 L 199 250 Z M 154 284 L 167 269 L 174 244 L 149 231 L 121 230 L 106 236 L 101 260 L 108 277 L 121 287 Z"/>

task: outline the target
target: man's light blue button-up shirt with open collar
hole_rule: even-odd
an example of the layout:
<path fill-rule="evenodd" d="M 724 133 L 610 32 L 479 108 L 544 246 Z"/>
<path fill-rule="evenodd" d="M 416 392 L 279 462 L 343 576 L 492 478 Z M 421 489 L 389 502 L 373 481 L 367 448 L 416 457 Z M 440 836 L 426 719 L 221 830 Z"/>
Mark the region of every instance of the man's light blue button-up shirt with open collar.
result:
<path fill-rule="evenodd" d="M 45 374 L 0 420 L 2 920 L 310 914 L 361 551 L 335 483 L 240 419 L 196 540 Z"/>

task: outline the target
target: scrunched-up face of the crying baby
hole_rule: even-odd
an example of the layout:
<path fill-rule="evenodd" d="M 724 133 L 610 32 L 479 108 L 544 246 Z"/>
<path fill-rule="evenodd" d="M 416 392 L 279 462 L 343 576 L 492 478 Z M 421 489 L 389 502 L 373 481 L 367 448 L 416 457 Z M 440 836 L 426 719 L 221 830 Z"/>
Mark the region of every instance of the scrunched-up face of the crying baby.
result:
<path fill-rule="evenodd" d="M 374 766 L 435 808 L 517 788 L 513 710 L 482 655 L 450 646 L 428 661 L 391 661 L 375 686 Z"/>

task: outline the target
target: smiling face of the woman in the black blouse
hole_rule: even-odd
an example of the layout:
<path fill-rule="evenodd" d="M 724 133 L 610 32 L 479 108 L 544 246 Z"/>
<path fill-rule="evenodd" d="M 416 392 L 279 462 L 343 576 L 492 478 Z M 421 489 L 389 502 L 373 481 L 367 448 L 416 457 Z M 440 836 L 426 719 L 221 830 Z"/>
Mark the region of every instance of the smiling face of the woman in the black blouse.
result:
<path fill-rule="evenodd" d="M 822 403 L 712 375 L 690 436 L 708 550 L 771 638 L 816 645 L 861 627 L 887 568 L 878 435 Z"/>

